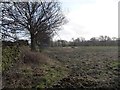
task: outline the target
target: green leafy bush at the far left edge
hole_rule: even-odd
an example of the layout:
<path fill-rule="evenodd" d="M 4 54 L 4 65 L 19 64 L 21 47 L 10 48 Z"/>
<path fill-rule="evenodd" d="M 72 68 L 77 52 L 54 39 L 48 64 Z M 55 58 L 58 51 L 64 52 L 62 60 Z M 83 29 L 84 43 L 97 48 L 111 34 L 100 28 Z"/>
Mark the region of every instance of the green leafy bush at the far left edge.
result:
<path fill-rule="evenodd" d="M 5 47 L 2 50 L 2 70 L 8 70 L 18 60 L 19 49 L 16 46 Z"/>

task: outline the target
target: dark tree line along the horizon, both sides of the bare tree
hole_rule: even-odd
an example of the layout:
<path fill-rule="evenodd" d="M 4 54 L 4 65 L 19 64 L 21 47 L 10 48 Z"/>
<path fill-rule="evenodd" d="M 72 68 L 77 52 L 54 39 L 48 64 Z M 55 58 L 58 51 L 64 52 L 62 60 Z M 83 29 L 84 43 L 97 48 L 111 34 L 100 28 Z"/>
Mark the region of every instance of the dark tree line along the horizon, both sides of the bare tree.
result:
<path fill-rule="evenodd" d="M 70 41 L 64 40 L 64 39 L 58 39 L 58 40 L 50 40 L 49 43 L 46 42 L 43 44 L 43 47 L 56 47 L 56 46 L 118 46 L 118 41 L 120 41 L 120 38 L 109 36 L 99 36 L 99 37 L 92 37 L 89 40 L 85 40 L 84 37 L 80 38 L 72 38 Z M 19 46 L 21 45 L 31 45 L 31 43 L 28 40 L 20 39 L 15 42 L 12 41 L 2 41 L 3 46 L 14 46 L 18 43 Z"/>

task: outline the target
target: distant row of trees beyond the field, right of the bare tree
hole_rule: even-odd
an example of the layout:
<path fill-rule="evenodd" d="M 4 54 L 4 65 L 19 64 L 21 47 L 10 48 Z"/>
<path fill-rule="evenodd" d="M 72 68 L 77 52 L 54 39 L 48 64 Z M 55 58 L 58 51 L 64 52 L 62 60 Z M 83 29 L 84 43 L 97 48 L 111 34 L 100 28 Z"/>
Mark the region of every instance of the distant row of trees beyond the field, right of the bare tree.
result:
<path fill-rule="evenodd" d="M 92 37 L 90 40 L 85 40 L 85 38 L 81 37 L 77 39 L 72 38 L 71 41 L 51 41 L 50 46 L 117 46 L 120 45 L 119 41 L 119 38 L 110 38 L 109 36 Z"/>

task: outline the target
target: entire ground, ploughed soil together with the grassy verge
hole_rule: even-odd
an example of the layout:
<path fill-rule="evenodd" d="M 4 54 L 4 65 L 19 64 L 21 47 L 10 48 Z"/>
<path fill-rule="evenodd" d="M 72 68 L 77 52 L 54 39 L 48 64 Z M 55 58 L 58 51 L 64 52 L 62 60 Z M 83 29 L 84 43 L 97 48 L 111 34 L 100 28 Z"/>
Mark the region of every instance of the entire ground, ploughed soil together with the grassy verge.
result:
<path fill-rule="evenodd" d="M 49 47 L 42 53 L 28 50 L 22 53 L 29 57 L 25 62 L 24 58 L 19 58 L 21 54 L 18 52 L 16 55 L 14 50 L 15 47 L 3 49 L 5 88 L 119 87 L 118 47 Z"/>

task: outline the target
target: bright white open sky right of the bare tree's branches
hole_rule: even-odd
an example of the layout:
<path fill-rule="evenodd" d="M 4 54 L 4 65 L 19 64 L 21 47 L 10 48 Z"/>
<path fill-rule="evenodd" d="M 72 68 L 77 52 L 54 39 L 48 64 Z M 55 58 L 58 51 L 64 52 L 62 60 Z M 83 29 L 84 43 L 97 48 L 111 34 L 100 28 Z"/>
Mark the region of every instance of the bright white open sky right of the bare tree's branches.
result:
<path fill-rule="evenodd" d="M 54 40 L 107 35 L 118 37 L 119 0 L 59 0 L 68 23 Z"/>

